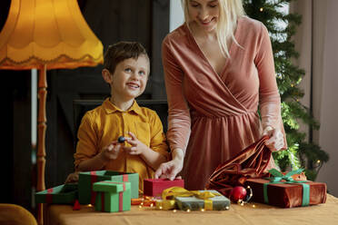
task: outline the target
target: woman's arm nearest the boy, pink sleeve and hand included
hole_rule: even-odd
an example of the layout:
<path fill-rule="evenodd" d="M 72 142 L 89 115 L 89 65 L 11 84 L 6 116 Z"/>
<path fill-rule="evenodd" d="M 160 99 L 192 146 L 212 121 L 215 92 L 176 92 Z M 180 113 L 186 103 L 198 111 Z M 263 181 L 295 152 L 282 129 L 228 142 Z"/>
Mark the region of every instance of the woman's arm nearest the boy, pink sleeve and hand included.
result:
<path fill-rule="evenodd" d="M 183 93 L 184 73 L 174 56 L 173 48 L 167 36 L 162 44 L 162 60 L 169 107 L 167 140 L 173 159 L 161 164 L 154 174 L 155 178 L 165 177 L 170 180 L 174 180 L 183 169 L 184 152 L 191 129 L 190 111 Z"/>

